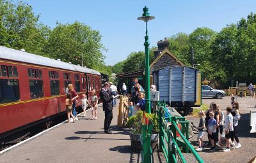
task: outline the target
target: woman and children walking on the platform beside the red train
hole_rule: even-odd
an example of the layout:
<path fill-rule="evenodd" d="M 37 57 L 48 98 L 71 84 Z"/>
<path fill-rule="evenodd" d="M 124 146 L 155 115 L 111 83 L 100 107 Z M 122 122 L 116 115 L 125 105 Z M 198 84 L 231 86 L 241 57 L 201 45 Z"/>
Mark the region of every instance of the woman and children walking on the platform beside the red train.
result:
<path fill-rule="evenodd" d="M 74 90 L 73 85 L 68 84 L 67 99 L 65 100 L 68 123 L 70 122 L 70 116 L 72 117 L 73 123 L 78 120 L 76 113 L 76 104 L 78 103 L 78 97 L 79 96 L 76 90 Z M 81 104 L 84 111 L 84 117 L 86 117 L 86 108 L 90 107 L 90 110 L 92 111 L 91 119 L 97 120 L 98 97 L 96 96 L 95 90 L 92 91 L 92 97 L 90 98 L 90 102 L 87 100 L 86 94 L 83 94 L 81 101 L 79 101 L 79 104 Z"/>

